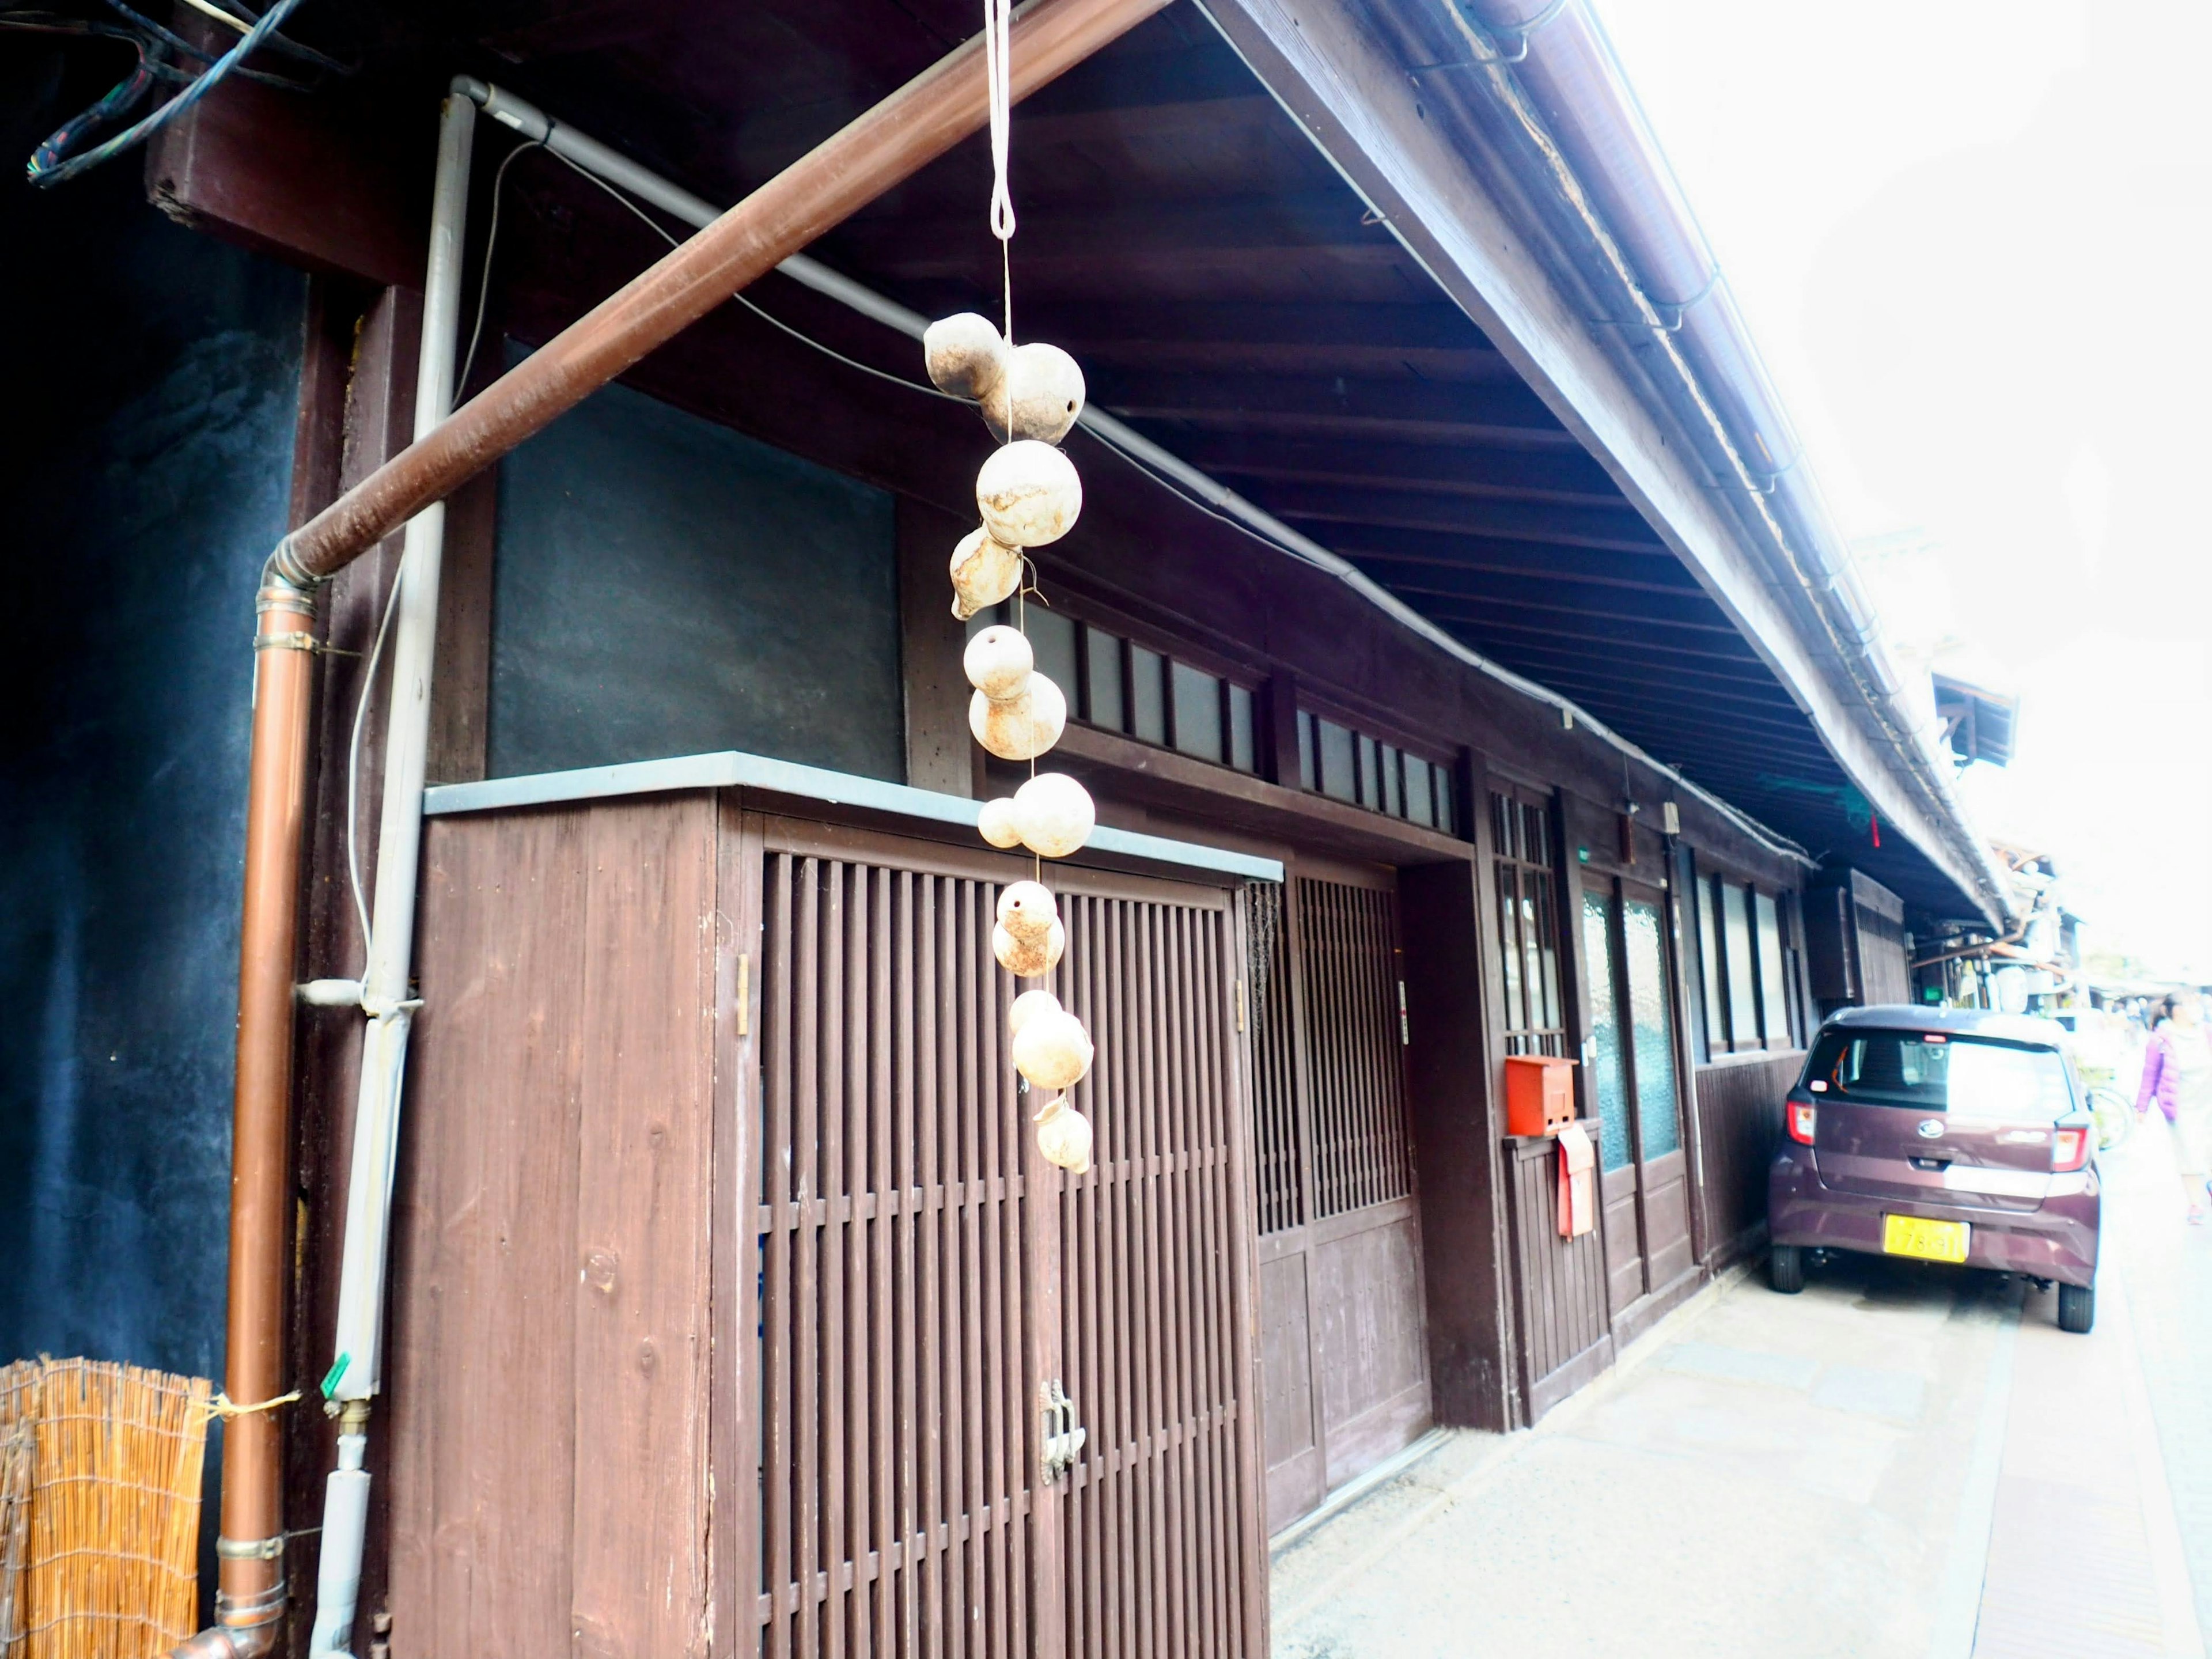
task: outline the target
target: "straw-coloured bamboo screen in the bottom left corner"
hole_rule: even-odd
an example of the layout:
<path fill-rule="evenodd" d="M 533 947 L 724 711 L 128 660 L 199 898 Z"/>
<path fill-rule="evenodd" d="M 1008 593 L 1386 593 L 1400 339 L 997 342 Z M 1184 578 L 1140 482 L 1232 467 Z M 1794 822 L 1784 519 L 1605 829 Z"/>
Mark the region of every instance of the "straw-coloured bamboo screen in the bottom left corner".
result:
<path fill-rule="evenodd" d="M 206 1378 L 0 1367 L 0 1659 L 137 1659 L 192 1635 Z"/>

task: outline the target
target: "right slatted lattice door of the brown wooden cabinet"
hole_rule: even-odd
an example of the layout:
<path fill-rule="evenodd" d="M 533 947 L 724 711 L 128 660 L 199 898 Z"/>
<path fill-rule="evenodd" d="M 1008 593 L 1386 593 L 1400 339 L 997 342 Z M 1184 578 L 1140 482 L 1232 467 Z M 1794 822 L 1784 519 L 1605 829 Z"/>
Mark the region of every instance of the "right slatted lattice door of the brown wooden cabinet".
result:
<path fill-rule="evenodd" d="M 1261 1659 L 1232 916 L 1217 891 L 1079 889 L 1062 916 L 1060 995 L 1099 1044 L 1075 1091 L 1093 1168 L 1060 1203 L 1066 1387 L 1091 1429 L 1068 1482 L 1066 1650 Z"/>

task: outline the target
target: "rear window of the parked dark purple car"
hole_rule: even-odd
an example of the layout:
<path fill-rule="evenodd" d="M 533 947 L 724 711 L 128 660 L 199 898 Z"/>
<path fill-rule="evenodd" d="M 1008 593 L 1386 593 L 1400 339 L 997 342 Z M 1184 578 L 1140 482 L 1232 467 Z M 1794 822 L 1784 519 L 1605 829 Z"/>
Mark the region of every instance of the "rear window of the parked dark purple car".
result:
<path fill-rule="evenodd" d="M 1805 1086 L 1816 1099 L 1958 1117 L 2051 1124 L 2073 1110 L 2055 1051 L 1922 1031 L 1827 1031 L 1805 1064 Z"/>

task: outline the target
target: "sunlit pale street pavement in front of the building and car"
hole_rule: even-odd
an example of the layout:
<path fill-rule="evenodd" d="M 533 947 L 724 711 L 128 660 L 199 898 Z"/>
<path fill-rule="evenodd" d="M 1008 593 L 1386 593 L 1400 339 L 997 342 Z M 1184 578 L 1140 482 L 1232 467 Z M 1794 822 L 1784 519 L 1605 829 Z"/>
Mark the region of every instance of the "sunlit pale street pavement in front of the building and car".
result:
<path fill-rule="evenodd" d="M 2090 1336 L 1991 1274 L 1761 1263 L 1281 1544 L 1276 1657 L 2201 1657 L 2212 1228 L 2157 1115 L 2101 1168 Z"/>

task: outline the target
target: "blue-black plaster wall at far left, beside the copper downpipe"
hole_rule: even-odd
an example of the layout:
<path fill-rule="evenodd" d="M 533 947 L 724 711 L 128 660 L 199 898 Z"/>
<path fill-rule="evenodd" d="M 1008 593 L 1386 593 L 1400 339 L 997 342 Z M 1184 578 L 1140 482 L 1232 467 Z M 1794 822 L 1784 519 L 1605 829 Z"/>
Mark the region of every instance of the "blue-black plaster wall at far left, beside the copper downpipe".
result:
<path fill-rule="evenodd" d="M 42 117 L 86 100 L 24 58 L 0 93 L 0 1360 L 221 1376 L 248 639 L 303 279 L 168 223 L 137 157 L 31 192 Z"/>

